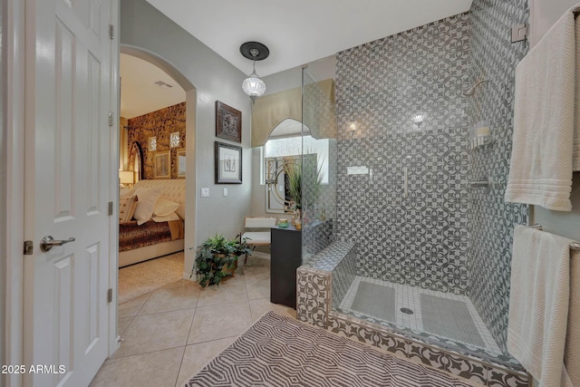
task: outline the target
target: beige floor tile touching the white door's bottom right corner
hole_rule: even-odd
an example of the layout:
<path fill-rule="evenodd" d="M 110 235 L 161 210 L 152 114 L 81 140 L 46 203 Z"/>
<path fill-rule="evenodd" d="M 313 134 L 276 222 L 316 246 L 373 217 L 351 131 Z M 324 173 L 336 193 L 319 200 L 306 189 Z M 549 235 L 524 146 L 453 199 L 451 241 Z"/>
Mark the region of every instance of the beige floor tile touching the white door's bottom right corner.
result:
<path fill-rule="evenodd" d="M 113 358 L 185 346 L 195 309 L 138 315 L 122 334 Z"/>

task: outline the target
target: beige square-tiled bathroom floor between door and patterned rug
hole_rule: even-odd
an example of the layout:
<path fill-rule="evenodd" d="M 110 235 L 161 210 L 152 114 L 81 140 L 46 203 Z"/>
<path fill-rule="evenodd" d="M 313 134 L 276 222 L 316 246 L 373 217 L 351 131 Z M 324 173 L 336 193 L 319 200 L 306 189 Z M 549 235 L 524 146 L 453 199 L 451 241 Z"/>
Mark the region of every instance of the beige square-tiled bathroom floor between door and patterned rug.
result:
<path fill-rule="evenodd" d="M 262 314 L 295 318 L 294 309 L 269 300 L 269 260 L 250 258 L 245 275 L 219 287 L 179 280 L 122 303 L 121 348 L 91 387 L 182 386 Z"/>

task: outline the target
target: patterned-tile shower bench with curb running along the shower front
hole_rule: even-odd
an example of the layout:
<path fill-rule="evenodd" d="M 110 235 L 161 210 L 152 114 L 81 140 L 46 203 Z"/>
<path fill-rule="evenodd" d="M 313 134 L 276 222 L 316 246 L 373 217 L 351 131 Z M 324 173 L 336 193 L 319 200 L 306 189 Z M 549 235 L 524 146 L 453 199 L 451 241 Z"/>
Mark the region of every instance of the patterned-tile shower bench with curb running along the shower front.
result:
<path fill-rule="evenodd" d="M 356 244 L 334 241 L 296 270 L 296 318 L 483 385 L 527 387 L 527 374 L 333 310 L 356 276 Z"/>

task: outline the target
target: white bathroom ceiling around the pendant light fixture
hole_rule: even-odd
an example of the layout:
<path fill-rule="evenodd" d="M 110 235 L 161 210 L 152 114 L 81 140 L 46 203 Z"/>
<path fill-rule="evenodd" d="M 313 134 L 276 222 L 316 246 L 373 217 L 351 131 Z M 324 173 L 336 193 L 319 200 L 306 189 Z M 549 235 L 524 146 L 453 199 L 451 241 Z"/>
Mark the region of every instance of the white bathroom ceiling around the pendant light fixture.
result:
<path fill-rule="evenodd" d="M 203 44 L 252 72 L 239 46 L 256 41 L 270 56 L 260 76 L 278 73 L 469 10 L 472 0 L 147 0 Z"/>

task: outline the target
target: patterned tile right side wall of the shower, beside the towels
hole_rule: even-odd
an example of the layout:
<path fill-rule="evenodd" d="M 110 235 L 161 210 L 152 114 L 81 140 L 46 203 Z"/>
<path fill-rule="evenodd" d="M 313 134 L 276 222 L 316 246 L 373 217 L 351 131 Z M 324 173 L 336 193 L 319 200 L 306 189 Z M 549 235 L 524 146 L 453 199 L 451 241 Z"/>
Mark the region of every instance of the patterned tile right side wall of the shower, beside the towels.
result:
<path fill-rule="evenodd" d="M 475 0 L 471 6 L 469 78 L 488 80 L 469 98 L 471 122 L 488 120 L 494 142 L 471 152 L 470 179 L 489 176 L 491 189 L 469 197 L 469 295 L 506 353 L 513 230 L 527 223 L 527 206 L 504 203 L 513 132 L 516 65 L 527 42 L 511 44 L 511 27 L 527 23 L 527 0 Z"/>

